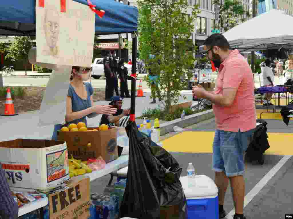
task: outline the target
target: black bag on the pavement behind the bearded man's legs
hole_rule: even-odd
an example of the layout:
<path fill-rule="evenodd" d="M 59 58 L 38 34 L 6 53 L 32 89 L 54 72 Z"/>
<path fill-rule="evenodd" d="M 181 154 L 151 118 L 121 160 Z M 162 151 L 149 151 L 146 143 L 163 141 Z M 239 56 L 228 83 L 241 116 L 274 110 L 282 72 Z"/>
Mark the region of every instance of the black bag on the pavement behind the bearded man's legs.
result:
<path fill-rule="evenodd" d="M 267 122 L 263 119 L 257 119 L 256 122 L 260 124 L 256 126 L 253 133 L 253 139 L 246 150 L 246 153 L 251 160 L 258 159 L 260 154 L 263 154 L 270 148 L 267 134 Z"/>

